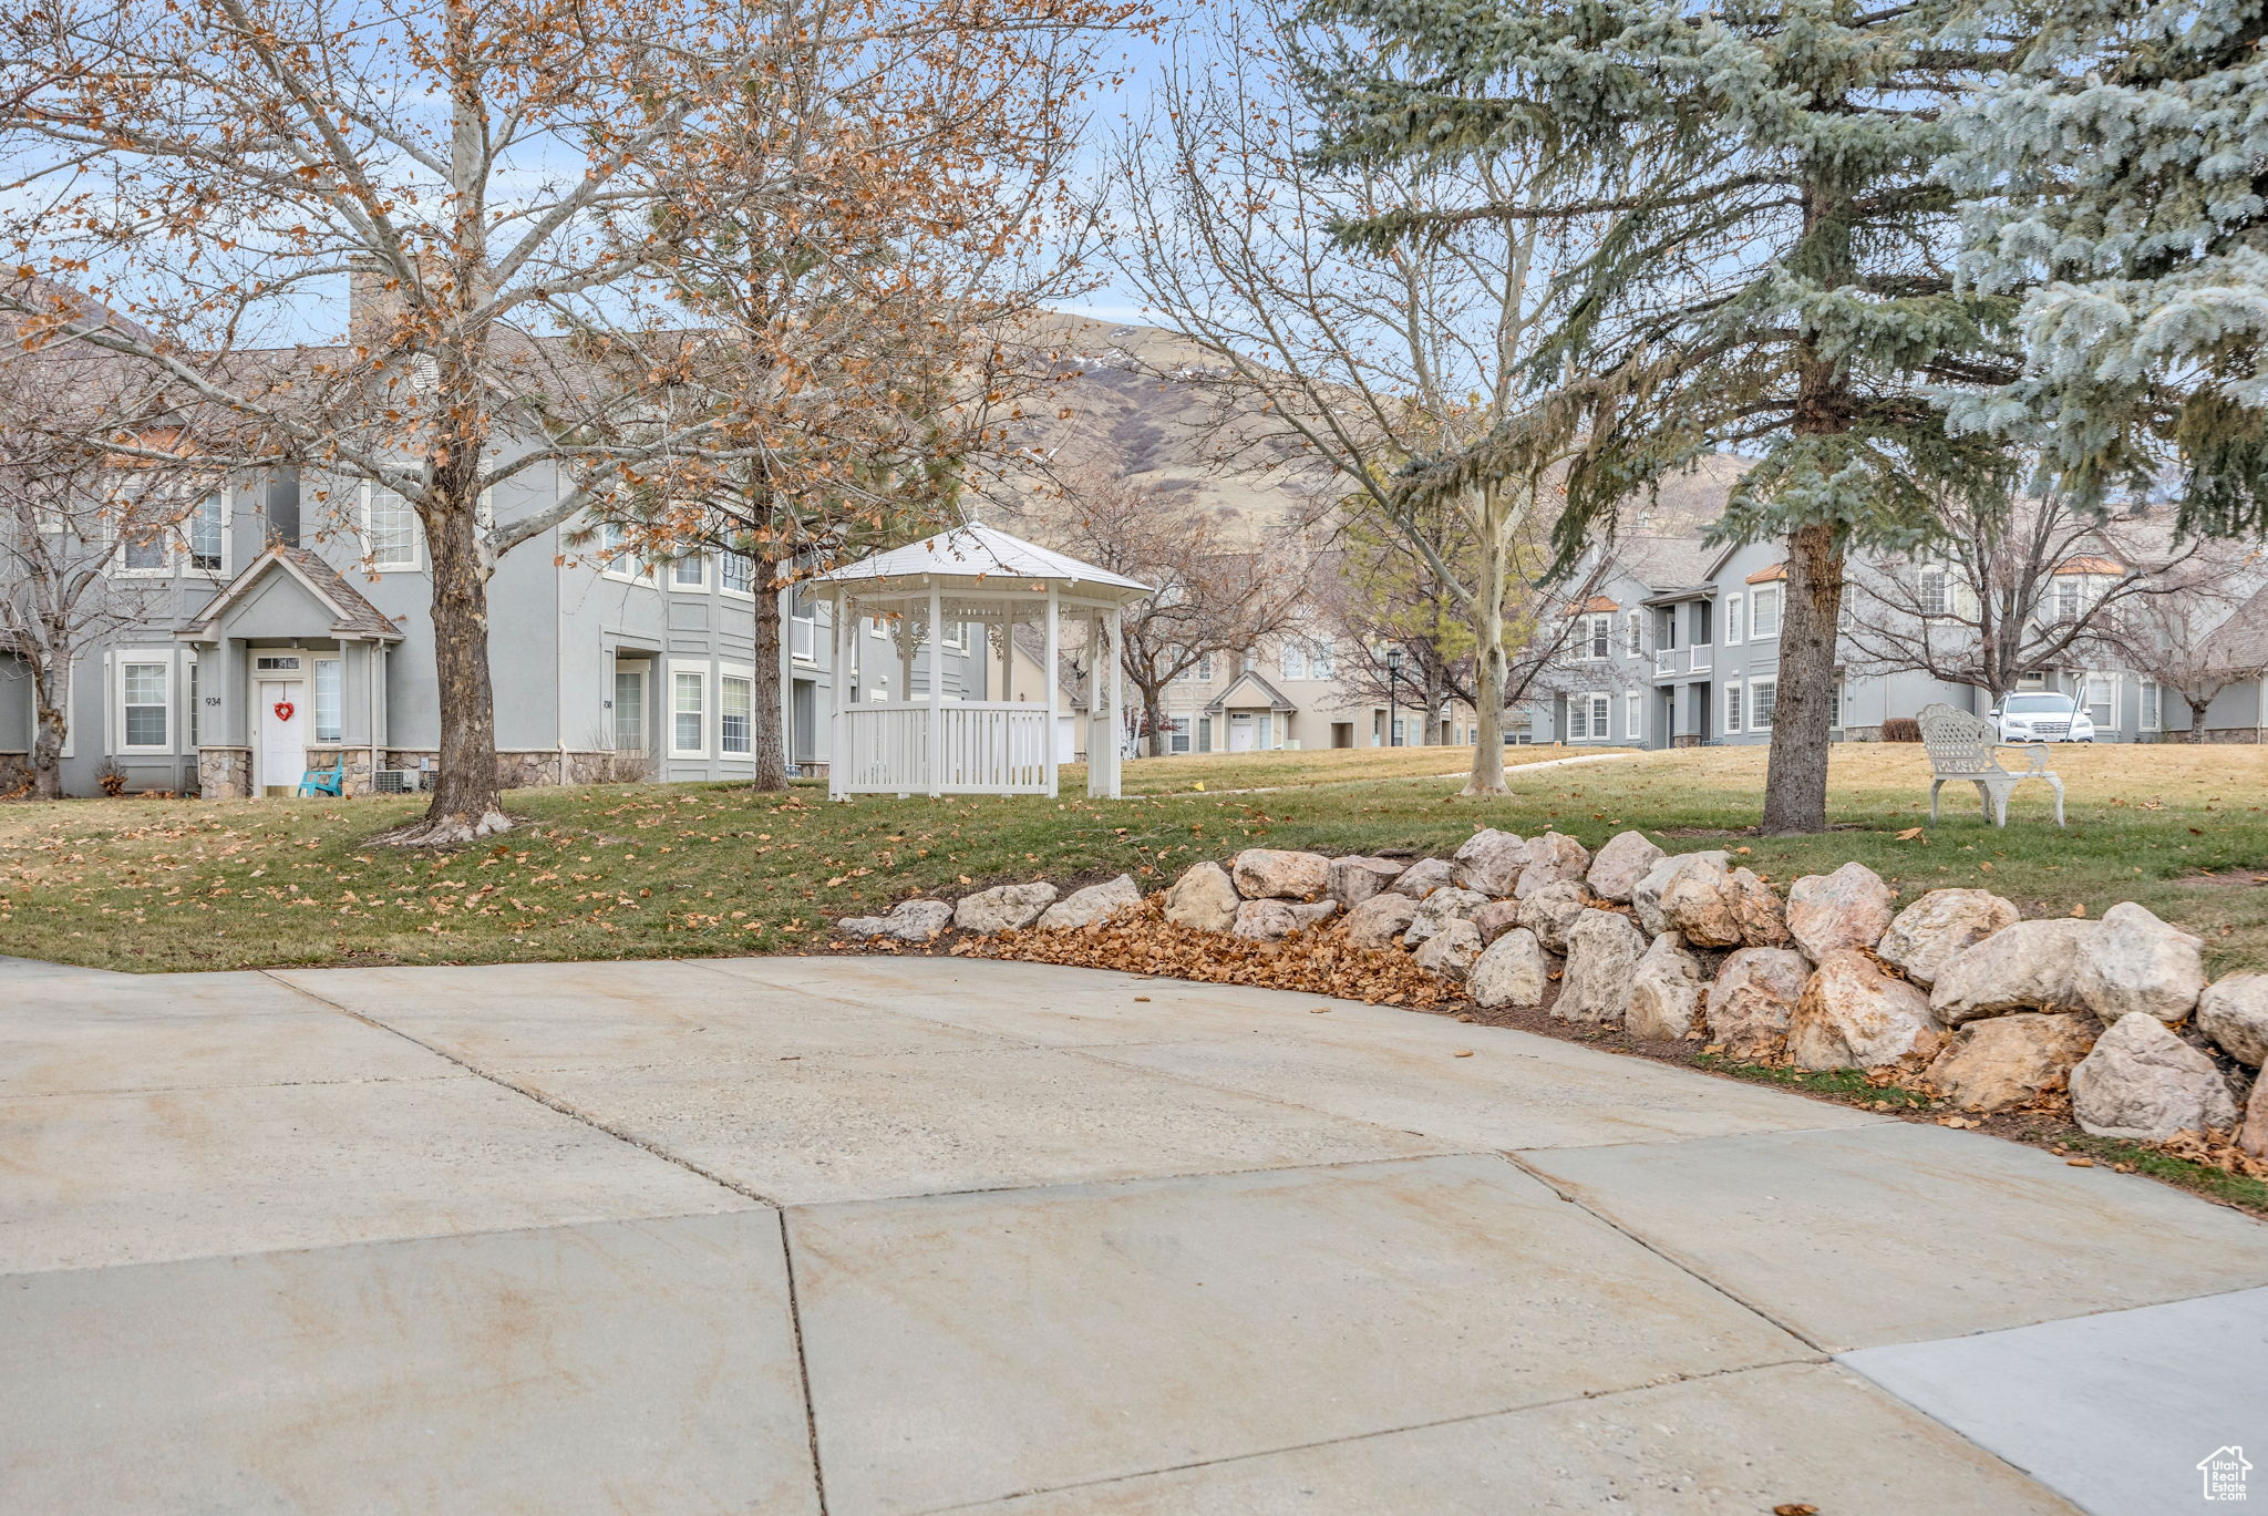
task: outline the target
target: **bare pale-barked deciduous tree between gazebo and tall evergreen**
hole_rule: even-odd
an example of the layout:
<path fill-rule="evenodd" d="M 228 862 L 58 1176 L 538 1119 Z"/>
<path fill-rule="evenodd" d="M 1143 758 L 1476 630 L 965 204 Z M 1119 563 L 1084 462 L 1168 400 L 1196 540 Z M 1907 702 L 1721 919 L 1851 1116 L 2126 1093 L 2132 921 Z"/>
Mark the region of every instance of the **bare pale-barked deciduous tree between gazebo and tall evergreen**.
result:
<path fill-rule="evenodd" d="M 1554 268 L 1579 227 L 1429 222 L 1467 197 L 1517 200 L 1513 157 L 1406 175 L 1322 168 L 1322 118 L 1284 57 L 1295 32 L 1225 23 L 1202 64 L 1175 66 L 1152 118 L 1120 143 L 1120 266 L 1148 309 L 1213 363 L 1175 379 L 1220 399 L 1220 447 L 1254 468 L 1325 468 L 1402 533 L 1472 629 L 1476 740 L 1465 794 L 1504 792 L 1504 606 L 1520 545 L 1551 508 L 1569 411 L 1531 370 L 1565 315 Z M 1349 247 L 1349 225 L 1408 227 Z M 1397 477 L 1492 445 L 1470 488 L 1438 490 L 1461 554 L 1436 547 Z"/>

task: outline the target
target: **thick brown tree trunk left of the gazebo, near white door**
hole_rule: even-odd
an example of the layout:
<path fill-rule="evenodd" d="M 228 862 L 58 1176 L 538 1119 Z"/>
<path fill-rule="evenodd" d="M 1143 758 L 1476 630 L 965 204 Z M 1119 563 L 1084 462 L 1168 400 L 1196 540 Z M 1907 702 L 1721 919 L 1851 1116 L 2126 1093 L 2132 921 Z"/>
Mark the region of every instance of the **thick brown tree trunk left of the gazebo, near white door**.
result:
<path fill-rule="evenodd" d="M 422 822 L 386 840 L 445 847 L 510 831 L 497 776 L 497 694 L 488 672 L 488 570 L 474 502 L 460 488 L 435 490 L 420 511 L 433 561 L 433 676 L 440 694 L 440 774 Z"/>

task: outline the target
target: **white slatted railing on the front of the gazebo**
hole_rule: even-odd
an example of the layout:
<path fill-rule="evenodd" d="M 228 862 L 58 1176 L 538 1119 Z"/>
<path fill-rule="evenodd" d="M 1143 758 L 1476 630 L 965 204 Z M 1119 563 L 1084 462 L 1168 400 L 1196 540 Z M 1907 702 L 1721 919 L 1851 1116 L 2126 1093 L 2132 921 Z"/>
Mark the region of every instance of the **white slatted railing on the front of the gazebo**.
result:
<path fill-rule="evenodd" d="M 937 717 L 937 778 L 930 719 Z M 1023 701 L 871 701 L 844 710 L 835 778 L 857 794 L 1048 794 L 1048 708 Z"/>

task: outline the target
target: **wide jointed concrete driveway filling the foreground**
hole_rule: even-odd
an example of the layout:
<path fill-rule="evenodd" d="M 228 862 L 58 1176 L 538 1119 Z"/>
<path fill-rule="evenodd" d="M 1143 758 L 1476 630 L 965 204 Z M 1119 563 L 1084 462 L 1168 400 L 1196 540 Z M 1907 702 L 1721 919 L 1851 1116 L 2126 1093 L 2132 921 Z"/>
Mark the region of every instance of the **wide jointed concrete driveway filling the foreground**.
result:
<path fill-rule="evenodd" d="M 2263 1287 L 2141 1178 L 1315 996 L 0 962 L 14 1516 L 2157 1516 L 2268 1452 Z"/>

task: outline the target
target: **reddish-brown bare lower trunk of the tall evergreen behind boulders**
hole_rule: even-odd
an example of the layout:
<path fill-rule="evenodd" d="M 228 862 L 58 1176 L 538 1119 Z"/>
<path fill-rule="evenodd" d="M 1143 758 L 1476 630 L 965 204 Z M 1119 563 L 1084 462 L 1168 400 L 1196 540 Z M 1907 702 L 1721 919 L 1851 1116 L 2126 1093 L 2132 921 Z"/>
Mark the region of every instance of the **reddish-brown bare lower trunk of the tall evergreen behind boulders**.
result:
<path fill-rule="evenodd" d="M 1828 828 L 1828 733 L 1835 728 L 1835 622 L 1844 558 L 1835 527 L 1812 522 L 1787 538 L 1780 610 L 1780 688 L 1771 715 L 1765 831 Z"/>

